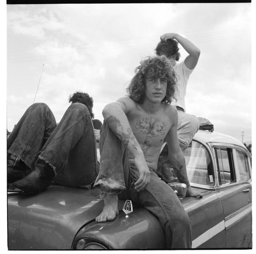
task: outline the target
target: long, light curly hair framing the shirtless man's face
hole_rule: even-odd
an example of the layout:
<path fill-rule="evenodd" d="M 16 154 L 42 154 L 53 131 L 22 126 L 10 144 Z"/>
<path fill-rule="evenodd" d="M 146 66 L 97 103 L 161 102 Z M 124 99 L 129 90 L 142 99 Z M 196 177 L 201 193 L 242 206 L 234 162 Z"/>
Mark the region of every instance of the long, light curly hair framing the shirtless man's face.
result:
<path fill-rule="evenodd" d="M 172 69 L 172 63 L 166 56 L 148 56 L 141 60 L 140 66 L 135 68 L 135 76 L 131 80 L 130 85 L 126 88 L 127 96 L 142 104 L 145 100 L 145 78 L 148 76 L 166 76 L 167 77 L 167 91 L 162 102 L 170 104 L 172 99 L 176 99 L 177 92 L 177 78 Z"/>

